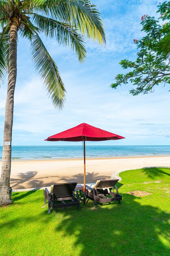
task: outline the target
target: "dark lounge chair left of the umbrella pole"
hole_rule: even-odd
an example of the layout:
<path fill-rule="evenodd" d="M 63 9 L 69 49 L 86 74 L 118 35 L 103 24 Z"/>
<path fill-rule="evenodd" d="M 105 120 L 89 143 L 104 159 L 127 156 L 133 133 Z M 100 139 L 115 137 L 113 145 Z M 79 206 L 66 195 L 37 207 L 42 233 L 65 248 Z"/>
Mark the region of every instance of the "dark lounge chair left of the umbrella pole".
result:
<path fill-rule="evenodd" d="M 48 213 L 51 212 L 51 208 L 77 206 L 80 209 L 76 184 L 77 182 L 54 184 L 51 186 L 50 192 L 47 188 L 44 189 L 44 203 L 46 204 L 48 200 Z M 75 198 L 74 191 L 76 191 L 77 198 Z"/>

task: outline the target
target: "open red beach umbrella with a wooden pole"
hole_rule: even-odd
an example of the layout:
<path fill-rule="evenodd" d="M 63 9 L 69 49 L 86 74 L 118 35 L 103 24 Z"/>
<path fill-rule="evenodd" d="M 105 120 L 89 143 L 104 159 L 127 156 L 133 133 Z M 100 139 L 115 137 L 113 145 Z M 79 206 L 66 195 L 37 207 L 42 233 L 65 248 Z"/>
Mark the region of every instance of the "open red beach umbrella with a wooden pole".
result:
<path fill-rule="evenodd" d="M 83 141 L 84 142 L 84 203 L 85 203 L 85 141 L 104 141 L 124 139 L 124 137 L 116 135 L 112 132 L 107 132 L 100 128 L 96 128 L 89 124 L 79 124 L 73 128 L 59 132 L 55 135 L 48 137 L 48 141 Z"/>

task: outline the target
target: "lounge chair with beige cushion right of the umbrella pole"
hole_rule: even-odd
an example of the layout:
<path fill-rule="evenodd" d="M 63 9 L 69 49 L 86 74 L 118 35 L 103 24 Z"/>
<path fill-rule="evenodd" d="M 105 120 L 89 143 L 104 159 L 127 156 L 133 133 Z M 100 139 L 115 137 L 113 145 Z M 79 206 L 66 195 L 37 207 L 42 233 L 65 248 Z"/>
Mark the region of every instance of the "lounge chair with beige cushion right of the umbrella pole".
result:
<path fill-rule="evenodd" d="M 118 201 L 120 204 L 122 195 L 119 195 L 118 188 L 115 186 L 117 182 L 118 180 L 98 180 L 93 186 L 86 185 L 86 196 L 94 200 L 95 207 L 97 207 L 97 203 L 103 204 L 113 201 Z M 116 189 L 116 193 L 114 189 Z"/>

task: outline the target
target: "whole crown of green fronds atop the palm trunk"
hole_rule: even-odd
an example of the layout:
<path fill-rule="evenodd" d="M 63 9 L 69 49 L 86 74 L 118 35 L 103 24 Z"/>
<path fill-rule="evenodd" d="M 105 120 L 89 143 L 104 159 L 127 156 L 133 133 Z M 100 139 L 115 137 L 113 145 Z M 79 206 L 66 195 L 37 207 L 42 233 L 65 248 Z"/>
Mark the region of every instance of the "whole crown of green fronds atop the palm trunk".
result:
<path fill-rule="evenodd" d="M 0 0 L 2 29 L 11 24 L 10 18 L 15 16 L 14 13 L 19 15 L 18 33 L 31 40 L 32 60 L 54 106 L 62 108 L 65 88 L 57 65 L 38 34 L 41 32 L 46 37 L 55 38 L 59 44 L 70 45 L 82 62 L 87 53 L 85 35 L 87 38 L 98 40 L 99 43 L 105 43 L 100 12 L 89 0 Z M 6 51 L 7 44 L 2 44 L 1 42 L 0 79 L 3 77 L 5 65 L 8 68 L 9 56 L 9 49 Z"/>

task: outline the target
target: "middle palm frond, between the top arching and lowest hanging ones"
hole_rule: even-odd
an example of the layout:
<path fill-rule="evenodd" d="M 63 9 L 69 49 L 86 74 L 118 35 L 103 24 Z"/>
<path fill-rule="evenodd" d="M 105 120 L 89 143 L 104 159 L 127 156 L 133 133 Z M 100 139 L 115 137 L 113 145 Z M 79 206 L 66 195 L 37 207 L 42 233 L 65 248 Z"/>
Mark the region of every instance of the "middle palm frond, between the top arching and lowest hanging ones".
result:
<path fill-rule="evenodd" d="M 87 53 L 84 47 L 84 38 L 77 33 L 72 25 L 46 18 L 36 13 L 33 15 L 33 21 L 46 36 L 55 37 L 59 44 L 71 45 L 78 55 L 79 61 L 84 61 Z"/>

